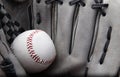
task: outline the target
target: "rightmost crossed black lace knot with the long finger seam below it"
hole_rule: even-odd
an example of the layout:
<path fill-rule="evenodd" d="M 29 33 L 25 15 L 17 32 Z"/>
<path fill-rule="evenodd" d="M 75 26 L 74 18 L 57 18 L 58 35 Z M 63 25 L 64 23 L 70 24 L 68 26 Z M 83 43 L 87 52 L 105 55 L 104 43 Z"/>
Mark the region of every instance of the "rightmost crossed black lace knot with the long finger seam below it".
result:
<path fill-rule="evenodd" d="M 97 39 L 97 35 L 98 35 L 100 16 L 101 16 L 101 14 L 103 16 L 105 16 L 106 13 L 104 12 L 104 9 L 108 8 L 108 4 L 104 4 L 102 0 L 94 0 L 94 1 L 96 4 L 93 4 L 91 6 L 91 8 L 95 9 L 97 11 L 97 13 L 96 13 L 96 19 L 95 19 L 95 24 L 94 24 L 95 26 L 94 26 L 93 35 L 92 35 L 92 41 L 91 41 L 91 45 L 90 45 L 90 49 L 89 49 L 89 53 L 88 53 L 88 62 L 90 62 L 90 58 L 94 52 L 96 39 Z"/>

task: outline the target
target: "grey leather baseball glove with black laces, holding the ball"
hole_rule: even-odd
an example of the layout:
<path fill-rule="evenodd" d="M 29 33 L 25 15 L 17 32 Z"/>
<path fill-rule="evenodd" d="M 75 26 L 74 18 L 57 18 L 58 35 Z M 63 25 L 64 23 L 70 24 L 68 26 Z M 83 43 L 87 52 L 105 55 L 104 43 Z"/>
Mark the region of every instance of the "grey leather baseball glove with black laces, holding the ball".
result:
<path fill-rule="evenodd" d="M 2 2 L 11 20 L 14 20 L 12 27 L 18 25 L 18 22 L 20 24 L 17 26 L 17 32 L 16 28 L 13 28 L 12 35 L 16 37 L 24 29 L 41 29 L 51 36 L 55 44 L 57 52 L 55 61 L 48 69 L 37 75 L 120 76 L 119 0 L 3 0 Z M 8 14 L 5 15 L 9 18 Z M 15 37 L 9 36 L 6 27 L 2 29 L 9 48 Z M 1 50 L 2 52 L 4 51 Z M 14 64 L 14 67 L 15 65 L 20 66 L 21 71 L 23 70 L 21 74 L 25 76 L 26 73 L 19 62 Z M 4 70 L 2 72 L 1 74 L 5 75 Z M 15 72 L 18 75 L 16 70 Z"/>

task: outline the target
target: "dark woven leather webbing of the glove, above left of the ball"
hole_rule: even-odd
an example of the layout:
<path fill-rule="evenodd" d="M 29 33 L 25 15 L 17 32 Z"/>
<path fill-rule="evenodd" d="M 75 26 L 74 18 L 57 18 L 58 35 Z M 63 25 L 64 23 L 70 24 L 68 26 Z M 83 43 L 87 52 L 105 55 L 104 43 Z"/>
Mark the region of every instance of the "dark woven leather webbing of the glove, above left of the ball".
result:
<path fill-rule="evenodd" d="M 0 24 L 3 28 L 7 42 L 11 44 L 15 37 L 24 31 L 17 21 L 12 21 L 10 14 L 8 14 L 3 5 L 0 4 Z"/>

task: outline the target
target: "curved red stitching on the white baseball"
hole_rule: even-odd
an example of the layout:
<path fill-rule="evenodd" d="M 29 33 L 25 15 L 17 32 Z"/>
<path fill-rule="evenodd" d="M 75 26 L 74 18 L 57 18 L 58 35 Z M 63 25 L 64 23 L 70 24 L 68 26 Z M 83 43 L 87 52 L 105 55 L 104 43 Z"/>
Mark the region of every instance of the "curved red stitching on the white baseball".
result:
<path fill-rule="evenodd" d="M 53 59 L 51 60 L 44 60 L 44 59 L 41 59 L 40 56 L 38 56 L 36 53 L 35 53 L 35 50 L 33 49 L 33 44 L 32 44 L 32 39 L 33 39 L 33 36 L 38 33 L 38 32 L 41 32 L 40 30 L 35 30 L 33 31 L 28 37 L 27 37 L 27 50 L 28 50 L 28 53 L 30 54 L 31 58 L 37 62 L 37 63 L 40 63 L 40 64 L 49 64 L 51 63 Z"/>

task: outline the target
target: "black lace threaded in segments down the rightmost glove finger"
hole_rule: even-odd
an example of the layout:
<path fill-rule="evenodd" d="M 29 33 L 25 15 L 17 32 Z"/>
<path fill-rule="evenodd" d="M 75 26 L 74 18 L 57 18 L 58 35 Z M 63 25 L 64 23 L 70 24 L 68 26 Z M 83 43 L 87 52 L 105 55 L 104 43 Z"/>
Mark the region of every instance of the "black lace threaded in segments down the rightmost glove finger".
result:
<path fill-rule="evenodd" d="M 103 49 L 103 54 L 100 58 L 100 64 L 103 64 L 104 62 L 104 59 L 105 59 L 105 56 L 106 56 L 106 53 L 107 53 L 107 49 L 108 49 L 108 46 L 109 46 L 109 43 L 110 43 L 110 39 L 111 39 L 111 32 L 112 32 L 112 27 L 110 26 L 109 29 L 108 29 L 108 33 L 107 33 L 107 41 L 105 43 L 105 46 L 104 46 L 104 49 Z"/>

